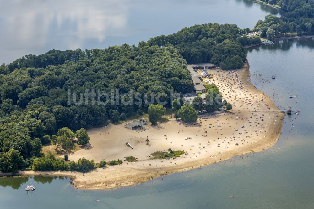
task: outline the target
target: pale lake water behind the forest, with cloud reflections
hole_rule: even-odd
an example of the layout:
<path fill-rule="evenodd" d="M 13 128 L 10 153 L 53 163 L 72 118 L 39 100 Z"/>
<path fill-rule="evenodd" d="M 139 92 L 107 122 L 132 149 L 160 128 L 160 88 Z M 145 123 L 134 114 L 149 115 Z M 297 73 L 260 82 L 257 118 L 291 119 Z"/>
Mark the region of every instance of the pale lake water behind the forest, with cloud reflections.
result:
<path fill-rule="evenodd" d="M 248 0 L 0 0 L 0 63 L 51 49 L 138 44 L 203 23 L 253 28 L 278 10 Z"/>

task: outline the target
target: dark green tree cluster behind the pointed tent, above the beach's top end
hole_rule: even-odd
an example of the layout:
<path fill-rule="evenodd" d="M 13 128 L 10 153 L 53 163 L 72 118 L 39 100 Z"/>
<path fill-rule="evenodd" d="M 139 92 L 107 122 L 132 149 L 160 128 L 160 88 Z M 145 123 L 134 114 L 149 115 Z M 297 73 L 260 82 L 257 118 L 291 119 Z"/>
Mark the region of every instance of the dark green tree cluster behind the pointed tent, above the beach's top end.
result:
<path fill-rule="evenodd" d="M 243 64 L 246 56 L 238 38 L 245 31 L 247 30 L 241 30 L 234 24 L 208 23 L 183 28 L 171 35 L 150 38 L 147 44 L 161 47 L 172 44 L 188 63 L 220 64 L 227 58 L 238 56 Z"/>

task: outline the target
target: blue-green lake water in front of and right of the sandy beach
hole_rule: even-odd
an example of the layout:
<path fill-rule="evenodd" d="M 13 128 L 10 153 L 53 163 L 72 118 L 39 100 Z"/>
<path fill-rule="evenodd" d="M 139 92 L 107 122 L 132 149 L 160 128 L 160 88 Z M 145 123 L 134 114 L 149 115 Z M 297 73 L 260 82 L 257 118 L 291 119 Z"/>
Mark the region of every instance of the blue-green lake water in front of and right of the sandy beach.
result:
<path fill-rule="evenodd" d="M 253 4 L 247 8 L 243 1 L 225 2 L 242 5 L 242 9 L 247 10 L 247 13 L 256 7 Z M 259 5 L 258 8 L 258 11 L 262 11 Z M 240 22 L 245 21 L 251 20 L 242 19 Z M 271 46 L 257 46 L 247 50 L 250 72 L 253 74 L 252 83 L 266 92 L 282 109 L 292 105 L 293 110 L 300 110 L 300 116 L 285 117 L 278 142 L 264 152 L 244 155 L 241 159 L 235 157 L 235 161 L 230 159 L 204 166 L 202 169 L 164 176 L 163 181 L 155 179 L 153 183 L 146 182 L 109 191 L 75 190 L 68 186 L 69 179 L 63 177 L 1 178 L 0 208 L 15 209 L 31 205 L 34 209 L 161 207 L 312 209 L 314 208 L 313 55 L 313 38 L 285 40 Z M 275 75 L 276 79 L 272 80 L 272 75 Z M 289 99 L 289 95 L 294 95 L 295 98 Z M 292 124 L 295 127 L 292 127 Z M 30 184 L 31 181 L 33 184 L 35 182 L 36 190 L 26 192 L 27 182 Z M 95 199 L 100 201 L 96 202 Z"/>

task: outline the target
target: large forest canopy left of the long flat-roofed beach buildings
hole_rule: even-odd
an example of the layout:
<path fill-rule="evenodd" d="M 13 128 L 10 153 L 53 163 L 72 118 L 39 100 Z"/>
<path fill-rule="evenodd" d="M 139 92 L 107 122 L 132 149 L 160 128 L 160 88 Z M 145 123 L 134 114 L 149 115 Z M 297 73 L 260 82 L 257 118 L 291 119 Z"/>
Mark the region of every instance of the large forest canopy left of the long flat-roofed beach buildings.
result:
<path fill-rule="evenodd" d="M 94 100 L 91 89 L 95 89 Z M 9 156 L 13 148 L 23 160 L 20 163 L 19 157 L 14 158 L 17 162 L 9 166 L 8 158 L 3 161 L 8 166 L 2 170 L 15 171 L 31 165 L 31 157 L 40 155 L 41 145 L 50 141 L 60 150 L 70 149 L 73 131 L 105 125 L 108 119 L 117 122 L 142 115 L 149 104 L 157 104 L 157 99 L 171 107 L 171 91 L 192 89 L 187 62 L 171 45 L 160 48 L 123 44 L 85 52 L 51 50 L 2 65 L 0 159 Z M 140 94 L 138 99 L 136 93 Z M 158 97 L 160 93 L 164 94 Z M 140 104 L 127 103 L 130 100 Z M 89 141 L 84 133 L 77 137 L 80 144 Z M 35 162 L 41 160 L 45 159 Z"/>

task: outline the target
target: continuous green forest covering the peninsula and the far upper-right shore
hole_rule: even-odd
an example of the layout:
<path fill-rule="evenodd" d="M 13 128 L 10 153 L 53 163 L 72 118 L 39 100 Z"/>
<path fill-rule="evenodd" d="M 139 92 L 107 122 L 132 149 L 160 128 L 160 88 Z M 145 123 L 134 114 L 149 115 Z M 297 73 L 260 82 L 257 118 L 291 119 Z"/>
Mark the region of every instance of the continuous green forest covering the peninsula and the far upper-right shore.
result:
<path fill-rule="evenodd" d="M 193 89 L 187 63 L 211 62 L 225 70 L 242 67 L 246 61 L 243 45 L 260 41 L 259 37 L 243 41 L 243 33 L 261 30 L 262 36 L 270 38 L 279 36 L 279 32 L 314 33 L 313 1 L 269 3 L 278 4 L 287 12 L 280 18 L 266 16 L 252 30 L 207 23 L 150 38 L 147 42 L 139 42 L 138 46 L 123 44 L 85 51 L 53 49 L 3 64 L 0 66 L 0 171 L 87 171 L 94 167 L 94 161 L 84 159 L 65 163 L 51 154 L 44 156 L 42 146 L 52 143 L 56 149 L 67 149 L 73 144 L 74 137 L 80 137 L 79 141 L 84 144 L 88 142 L 87 128 L 105 125 L 107 120 L 116 123 L 126 117 L 147 113 L 149 105 L 144 102 L 144 94 L 148 95 L 148 101 L 157 104 L 155 96 L 164 93 L 160 100 L 170 109 L 171 91 L 182 95 Z M 207 90 L 210 88 L 216 87 L 208 85 Z M 91 101 L 83 100 L 77 105 L 73 102 L 72 93 L 80 97 L 75 99 L 78 101 L 86 89 L 105 92 L 115 103 L 102 105 L 96 100 L 91 104 Z M 112 89 L 119 94 L 111 94 Z M 70 103 L 68 90 L 72 95 Z M 130 91 L 133 95 L 142 95 L 142 104 L 121 104 L 122 100 L 134 99 L 128 95 L 120 96 Z M 105 99 L 101 97 L 100 101 Z M 198 112 L 219 108 L 217 105 L 203 107 L 196 104 L 193 107 Z M 182 109 L 177 115 L 186 112 L 191 110 Z"/>

